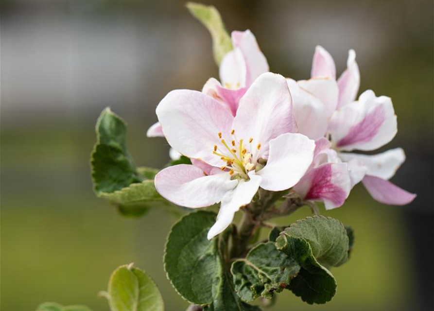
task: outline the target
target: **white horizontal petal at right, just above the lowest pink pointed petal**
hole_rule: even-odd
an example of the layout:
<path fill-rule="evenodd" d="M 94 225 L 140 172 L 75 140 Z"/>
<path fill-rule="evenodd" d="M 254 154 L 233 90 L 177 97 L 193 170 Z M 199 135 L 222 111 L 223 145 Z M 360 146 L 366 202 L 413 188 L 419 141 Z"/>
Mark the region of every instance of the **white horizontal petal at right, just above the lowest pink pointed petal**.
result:
<path fill-rule="evenodd" d="M 340 157 L 346 162 L 350 159 L 358 159 L 367 167 L 367 175 L 386 180 L 392 178 L 399 166 L 405 161 L 402 148 L 391 149 L 378 155 L 359 155 L 343 152 Z"/>

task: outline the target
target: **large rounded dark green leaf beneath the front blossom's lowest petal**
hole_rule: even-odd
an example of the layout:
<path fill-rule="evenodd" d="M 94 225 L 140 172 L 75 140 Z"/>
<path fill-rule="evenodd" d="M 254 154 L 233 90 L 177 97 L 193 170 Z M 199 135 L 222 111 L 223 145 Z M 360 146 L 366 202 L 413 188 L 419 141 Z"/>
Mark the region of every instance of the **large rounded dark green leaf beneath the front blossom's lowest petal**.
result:
<path fill-rule="evenodd" d="M 172 228 L 166 243 L 164 268 L 175 290 L 187 301 L 212 311 L 259 311 L 243 303 L 234 290 L 226 265 L 228 234 L 208 241 L 216 214 L 197 211 Z"/>

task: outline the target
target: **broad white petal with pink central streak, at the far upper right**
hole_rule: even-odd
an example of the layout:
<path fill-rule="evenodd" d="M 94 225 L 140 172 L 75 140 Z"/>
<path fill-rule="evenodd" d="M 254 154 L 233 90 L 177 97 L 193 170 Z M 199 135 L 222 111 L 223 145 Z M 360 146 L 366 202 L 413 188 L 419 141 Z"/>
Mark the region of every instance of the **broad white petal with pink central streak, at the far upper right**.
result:
<path fill-rule="evenodd" d="M 389 97 L 365 91 L 358 102 L 347 104 L 330 118 L 329 131 L 341 150 L 375 150 L 395 137 L 397 120 Z"/>

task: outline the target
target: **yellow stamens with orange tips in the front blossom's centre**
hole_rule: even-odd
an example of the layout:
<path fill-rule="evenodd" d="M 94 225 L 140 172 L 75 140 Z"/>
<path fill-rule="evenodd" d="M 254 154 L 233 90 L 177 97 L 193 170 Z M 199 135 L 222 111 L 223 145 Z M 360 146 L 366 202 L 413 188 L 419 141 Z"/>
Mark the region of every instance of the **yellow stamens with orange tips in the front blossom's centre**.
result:
<path fill-rule="evenodd" d="M 228 171 L 231 176 L 241 177 L 249 179 L 248 172 L 255 170 L 256 161 L 252 157 L 252 143 L 253 138 L 249 138 L 248 144 L 244 143 L 243 139 L 237 139 L 235 137 L 235 130 L 230 132 L 230 143 L 227 143 L 222 138 L 222 133 L 218 133 L 218 137 L 221 139 L 221 145 L 214 145 L 213 154 L 220 157 L 225 163 L 221 167 L 222 171 Z M 260 143 L 256 145 L 256 150 L 260 150 Z"/>

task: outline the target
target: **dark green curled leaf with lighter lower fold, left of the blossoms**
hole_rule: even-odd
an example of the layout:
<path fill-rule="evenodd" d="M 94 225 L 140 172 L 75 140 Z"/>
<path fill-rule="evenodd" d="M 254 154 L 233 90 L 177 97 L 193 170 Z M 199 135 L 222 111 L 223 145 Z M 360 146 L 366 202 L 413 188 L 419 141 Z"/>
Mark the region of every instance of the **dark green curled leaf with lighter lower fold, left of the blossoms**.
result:
<path fill-rule="evenodd" d="M 96 124 L 97 143 L 91 158 L 95 192 L 118 207 L 124 216 L 138 217 L 149 207 L 169 205 L 156 191 L 158 170 L 133 163 L 126 148 L 125 122 L 110 108 L 104 109 Z"/>

